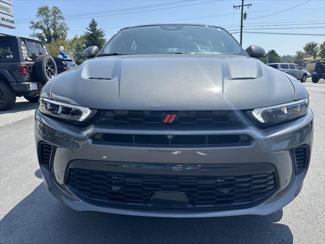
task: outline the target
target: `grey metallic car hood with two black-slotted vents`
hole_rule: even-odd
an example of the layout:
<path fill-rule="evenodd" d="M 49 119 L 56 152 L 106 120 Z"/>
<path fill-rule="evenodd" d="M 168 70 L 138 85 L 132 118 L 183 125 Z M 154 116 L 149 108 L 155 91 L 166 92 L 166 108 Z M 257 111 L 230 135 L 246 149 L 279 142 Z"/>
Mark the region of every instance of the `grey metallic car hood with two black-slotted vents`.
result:
<path fill-rule="evenodd" d="M 282 72 L 230 55 L 98 57 L 52 84 L 52 99 L 96 109 L 237 110 L 295 100 Z"/>

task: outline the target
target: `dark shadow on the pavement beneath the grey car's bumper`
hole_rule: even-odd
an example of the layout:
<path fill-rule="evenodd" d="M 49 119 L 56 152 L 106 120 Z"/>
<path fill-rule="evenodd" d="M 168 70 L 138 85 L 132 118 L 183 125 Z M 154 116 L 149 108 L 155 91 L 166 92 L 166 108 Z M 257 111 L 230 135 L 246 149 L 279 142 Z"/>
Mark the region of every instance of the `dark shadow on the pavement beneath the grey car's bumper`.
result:
<path fill-rule="evenodd" d="M 1 243 L 293 243 L 270 216 L 169 219 L 78 212 L 39 185 L 0 221 Z"/>

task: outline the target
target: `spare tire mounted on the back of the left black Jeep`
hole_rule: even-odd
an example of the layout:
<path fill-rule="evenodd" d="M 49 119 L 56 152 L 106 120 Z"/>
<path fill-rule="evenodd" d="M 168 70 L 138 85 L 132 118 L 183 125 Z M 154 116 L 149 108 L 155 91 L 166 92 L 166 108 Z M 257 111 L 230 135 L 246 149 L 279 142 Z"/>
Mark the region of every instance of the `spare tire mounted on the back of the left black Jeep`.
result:
<path fill-rule="evenodd" d="M 36 57 L 34 71 L 39 82 L 45 84 L 57 74 L 56 64 L 50 55 L 41 54 Z"/>

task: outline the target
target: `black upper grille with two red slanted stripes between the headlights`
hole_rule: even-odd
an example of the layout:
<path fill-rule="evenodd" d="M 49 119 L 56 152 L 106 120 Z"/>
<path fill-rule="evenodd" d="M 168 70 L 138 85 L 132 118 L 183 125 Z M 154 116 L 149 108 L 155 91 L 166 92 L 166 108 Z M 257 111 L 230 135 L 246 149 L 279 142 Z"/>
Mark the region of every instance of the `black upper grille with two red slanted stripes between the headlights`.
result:
<path fill-rule="evenodd" d="M 174 116 L 173 116 L 174 115 Z M 164 122 L 165 121 L 165 122 Z M 223 127 L 246 125 L 241 111 L 102 110 L 95 124 L 127 127 Z"/>

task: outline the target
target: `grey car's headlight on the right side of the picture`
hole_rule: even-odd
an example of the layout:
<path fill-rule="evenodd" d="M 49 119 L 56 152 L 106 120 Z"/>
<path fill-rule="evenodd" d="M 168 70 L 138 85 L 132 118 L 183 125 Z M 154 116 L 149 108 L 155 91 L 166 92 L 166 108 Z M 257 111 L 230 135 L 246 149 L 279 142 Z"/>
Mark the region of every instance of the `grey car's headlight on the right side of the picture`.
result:
<path fill-rule="evenodd" d="M 302 117 L 308 113 L 309 99 L 284 103 L 270 107 L 255 108 L 248 113 L 259 123 L 278 124 Z"/>

